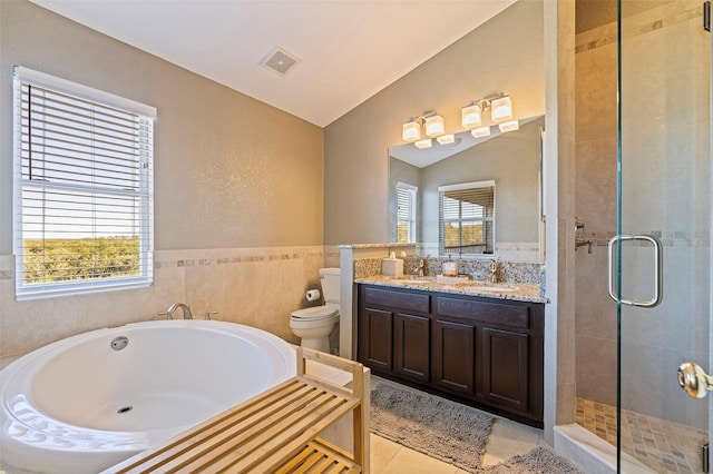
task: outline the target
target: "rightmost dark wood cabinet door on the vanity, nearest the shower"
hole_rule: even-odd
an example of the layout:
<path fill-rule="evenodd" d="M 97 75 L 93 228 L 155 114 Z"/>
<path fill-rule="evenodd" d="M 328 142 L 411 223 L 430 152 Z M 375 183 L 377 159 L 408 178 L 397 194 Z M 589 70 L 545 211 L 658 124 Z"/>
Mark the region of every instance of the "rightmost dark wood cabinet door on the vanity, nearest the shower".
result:
<path fill-rule="evenodd" d="M 485 396 L 498 405 L 528 409 L 529 336 L 502 329 L 482 329 Z"/>

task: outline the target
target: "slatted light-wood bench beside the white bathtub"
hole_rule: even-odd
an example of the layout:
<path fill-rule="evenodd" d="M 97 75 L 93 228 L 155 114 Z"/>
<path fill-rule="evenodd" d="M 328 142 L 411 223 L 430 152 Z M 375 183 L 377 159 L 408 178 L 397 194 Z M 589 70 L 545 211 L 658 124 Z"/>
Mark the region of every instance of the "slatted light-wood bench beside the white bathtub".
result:
<path fill-rule="evenodd" d="M 350 372 L 352 388 L 307 374 L 307 361 Z M 368 385 L 361 364 L 297 347 L 296 377 L 105 473 L 369 473 Z M 352 453 L 320 437 L 350 412 Z"/>

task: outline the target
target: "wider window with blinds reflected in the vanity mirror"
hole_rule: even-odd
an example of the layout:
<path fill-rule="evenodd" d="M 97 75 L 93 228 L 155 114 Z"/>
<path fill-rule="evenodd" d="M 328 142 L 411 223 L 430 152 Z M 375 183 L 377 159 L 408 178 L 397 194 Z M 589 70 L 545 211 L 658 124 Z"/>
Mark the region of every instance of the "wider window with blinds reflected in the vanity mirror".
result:
<path fill-rule="evenodd" d="M 492 254 L 495 181 L 441 186 L 438 191 L 441 255 Z"/>

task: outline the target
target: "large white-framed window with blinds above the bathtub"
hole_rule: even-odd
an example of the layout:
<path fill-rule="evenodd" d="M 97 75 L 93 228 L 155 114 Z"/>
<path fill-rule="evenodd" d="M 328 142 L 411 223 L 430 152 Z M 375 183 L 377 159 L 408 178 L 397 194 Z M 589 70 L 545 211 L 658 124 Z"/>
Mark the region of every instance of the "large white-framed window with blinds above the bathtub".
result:
<path fill-rule="evenodd" d="M 156 110 L 14 68 L 16 296 L 153 282 Z"/>

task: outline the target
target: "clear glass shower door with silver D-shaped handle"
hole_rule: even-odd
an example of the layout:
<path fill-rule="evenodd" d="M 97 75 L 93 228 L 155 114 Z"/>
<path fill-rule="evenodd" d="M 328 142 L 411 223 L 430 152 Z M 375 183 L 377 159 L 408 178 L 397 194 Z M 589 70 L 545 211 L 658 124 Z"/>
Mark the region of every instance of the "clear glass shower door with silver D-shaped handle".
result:
<path fill-rule="evenodd" d="M 711 397 L 686 395 L 677 369 L 713 371 L 711 33 L 699 1 L 618 3 L 619 472 L 704 472 Z"/>

